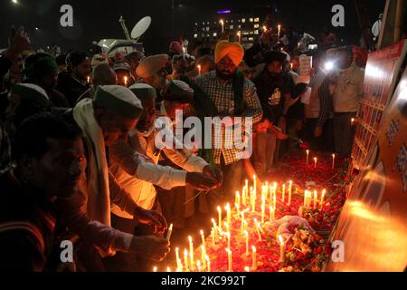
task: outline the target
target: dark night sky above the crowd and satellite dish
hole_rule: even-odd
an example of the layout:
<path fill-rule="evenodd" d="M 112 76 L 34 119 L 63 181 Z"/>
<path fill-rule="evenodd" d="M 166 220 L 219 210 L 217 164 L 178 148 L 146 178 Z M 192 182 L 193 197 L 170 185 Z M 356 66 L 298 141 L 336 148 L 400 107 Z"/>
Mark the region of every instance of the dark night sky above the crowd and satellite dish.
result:
<path fill-rule="evenodd" d="M 172 0 L 0 0 L 0 48 L 7 42 L 8 29 L 12 24 L 24 24 L 27 27 L 33 46 L 59 43 L 62 50 L 71 48 L 87 49 L 91 41 L 102 38 L 123 38 L 118 24 L 123 15 L 128 30 L 145 15 L 151 15 L 153 23 L 141 41 L 145 43 L 147 53 L 166 52 L 171 40 L 171 1 Z M 372 22 L 383 12 L 384 0 L 366 1 Z M 60 7 L 69 4 L 74 9 L 74 27 L 60 26 Z M 182 4 L 182 5 L 179 5 Z M 331 22 L 331 7 L 336 4 L 345 6 L 345 28 L 334 29 Z M 357 43 L 360 29 L 355 14 L 353 0 L 175 0 L 175 34 L 192 31 L 194 22 L 214 20 L 218 9 L 232 9 L 232 12 L 266 14 L 279 8 L 275 19 L 283 26 L 305 28 L 315 36 L 325 27 L 333 30 L 345 43 Z M 34 27 L 38 26 L 39 31 Z M 187 27 L 187 28 L 185 28 Z M 189 28 L 191 27 L 191 29 Z"/>

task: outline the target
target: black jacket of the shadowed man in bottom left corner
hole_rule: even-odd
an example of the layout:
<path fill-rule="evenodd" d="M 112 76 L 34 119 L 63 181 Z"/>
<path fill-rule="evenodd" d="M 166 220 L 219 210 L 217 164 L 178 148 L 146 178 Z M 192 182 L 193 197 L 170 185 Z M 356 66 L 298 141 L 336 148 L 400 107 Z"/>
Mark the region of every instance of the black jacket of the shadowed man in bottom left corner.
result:
<path fill-rule="evenodd" d="M 0 189 L 0 270 L 43 271 L 55 227 L 51 201 L 10 172 L 0 176 Z"/>

